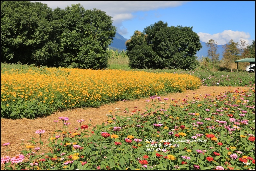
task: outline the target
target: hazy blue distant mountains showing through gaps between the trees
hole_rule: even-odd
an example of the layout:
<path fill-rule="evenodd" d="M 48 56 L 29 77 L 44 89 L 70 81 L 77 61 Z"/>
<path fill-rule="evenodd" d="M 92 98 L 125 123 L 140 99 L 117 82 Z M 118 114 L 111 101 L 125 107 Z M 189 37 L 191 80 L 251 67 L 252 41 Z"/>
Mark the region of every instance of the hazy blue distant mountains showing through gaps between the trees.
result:
<path fill-rule="evenodd" d="M 126 51 L 126 46 L 125 46 L 126 40 L 128 40 L 128 39 L 124 38 L 121 34 L 116 33 L 115 37 L 113 38 L 113 43 L 111 43 L 109 48 L 113 49 L 113 50 L 118 50 L 118 51 L 123 51 L 123 50 Z M 198 58 L 208 56 L 208 54 L 207 54 L 208 47 L 206 46 L 206 43 L 202 42 L 202 41 L 200 41 L 200 43 L 202 44 L 202 49 L 196 53 L 196 56 Z M 224 51 L 223 45 L 218 45 L 217 46 L 217 54 L 218 53 L 220 54 L 219 60 L 222 59 L 223 51 Z"/>

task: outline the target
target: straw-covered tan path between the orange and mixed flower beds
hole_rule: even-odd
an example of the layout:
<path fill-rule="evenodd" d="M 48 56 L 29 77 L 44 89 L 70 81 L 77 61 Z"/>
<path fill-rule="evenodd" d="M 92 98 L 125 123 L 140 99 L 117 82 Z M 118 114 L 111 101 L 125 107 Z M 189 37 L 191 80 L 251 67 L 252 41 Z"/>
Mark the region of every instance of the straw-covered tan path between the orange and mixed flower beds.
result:
<path fill-rule="evenodd" d="M 182 99 L 188 98 L 191 100 L 192 97 L 196 95 L 205 95 L 205 94 L 220 94 L 222 92 L 235 90 L 238 87 L 205 87 L 201 86 L 198 90 L 187 90 L 185 93 L 170 93 L 165 96 L 161 96 L 161 98 L 174 98 L 174 99 Z M 186 97 L 188 96 L 188 97 Z M 134 110 L 134 107 L 138 107 L 137 109 L 144 109 L 145 100 L 150 98 L 142 98 L 134 101 L 118 101 L 114 104 L 104 105 L 100 108 L 76 108 L 74 110 L 67 110 L 64 112 L 56 112 L 53 115 L 50 115 L 46 118 L 38 118 L 35 120 L 29 119 L 19 119 L 19 120 L 11 120 L 11 119 L 1 119 L 1 145 L 6 142 L 10 142 L 8 145 L 8 154 L 5 151 L 6 147 L 1 146 L 1 157 L 10 156 L 14 157 L 16 154 L 20 154 L 21 150 L 24 150 L 24 145 L 21 145 L 21 139 L 24 139 L 24 143 L 30 145 L 29 142 L 32 137 L 37 138 L 35 141 L 39 141 L 38 134 L 35 134 L 36 130 L 44 129 L 45 133 L 42 134 L 42 141 L 44 144 L 47 143 L 49 138 L 49 133 L 54 132 L 56 129 L 54 120 L 58 120 L 58 117 L 64 116 L 69 118 L 68 131 L 74 132 L 74 128 L 79 128 L 80 124 L 76 121 L 79 119 L 84 119 L 85 121 L 82 124 L 89 124 L 89 119 L 92 119 L 91 124 L 102 124 L 106 122 L 108 117 L 106 114 L 110 114 L 109 110 L 113 110 L 113 113 L 116 111 L 116 107 L 120 107 L 121 111 L 123 111 L 126 107 L 129 108 L 131 113 Z M 124 115 L 123 112 L 120 112 L 119 115 Z M 62 130 L 62 121 L 57 123 L 57 129 Z M 35 146 L 36 147 L 36 146 Z"/>

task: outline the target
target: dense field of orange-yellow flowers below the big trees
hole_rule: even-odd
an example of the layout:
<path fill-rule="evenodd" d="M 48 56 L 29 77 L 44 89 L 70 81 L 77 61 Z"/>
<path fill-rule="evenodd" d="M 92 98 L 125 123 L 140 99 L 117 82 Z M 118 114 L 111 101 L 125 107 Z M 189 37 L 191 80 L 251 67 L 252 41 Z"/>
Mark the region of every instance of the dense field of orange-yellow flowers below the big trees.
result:
<path fill-rule="evenodd" d="M 200 85 L 200 79 L 189 74 L 2 64 L 1 117 L 33 119 L 57 110 L 99 107 Z"/>

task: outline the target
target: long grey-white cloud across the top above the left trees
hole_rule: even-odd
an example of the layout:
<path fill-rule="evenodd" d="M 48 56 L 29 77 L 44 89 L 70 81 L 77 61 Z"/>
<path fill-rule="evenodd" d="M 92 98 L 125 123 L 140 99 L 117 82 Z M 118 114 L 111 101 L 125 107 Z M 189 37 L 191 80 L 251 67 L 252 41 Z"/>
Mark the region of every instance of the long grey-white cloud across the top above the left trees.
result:
<path fill-rule="evenodd" d="M 36 2 L 36 1 L 31 1 Z M 177 7 L 188 1 L 37 1 L 47 4 L 54 9 L 60 7 L 64 9 L 71 4 L 81 4 L 84 9 L 97 8 L 105 11 L 107 15 L 112 16 L 113 25 L 117 27 L 117 32 L 126 34 L 127 29 L 123 27 L 123 21 L 131 20 L 134 16 L 132 13 L 138 11 L 157 10 L 159 8 Z"/>

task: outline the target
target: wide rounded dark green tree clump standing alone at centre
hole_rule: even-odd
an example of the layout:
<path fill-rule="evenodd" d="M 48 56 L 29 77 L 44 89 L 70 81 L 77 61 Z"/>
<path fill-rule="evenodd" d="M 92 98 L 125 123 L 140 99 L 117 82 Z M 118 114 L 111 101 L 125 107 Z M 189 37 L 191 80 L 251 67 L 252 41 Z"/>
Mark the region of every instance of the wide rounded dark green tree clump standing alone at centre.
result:
<path fill-rule="evenodd" d="M 202 45 L 192 27 L 168 27 L 158 21 L 143 33 L 135 31 L 126 47 L 132 68 L 194 69 L 198 66 L 195 54 Z M 139 64 L 141 60 L 145 62 Z"/>

